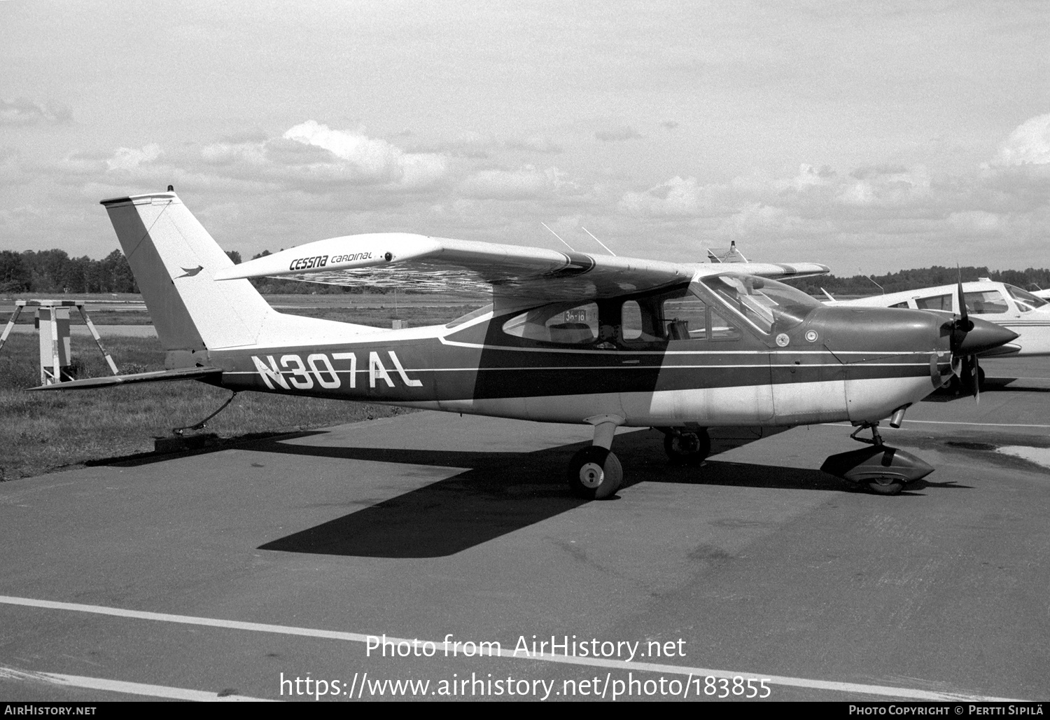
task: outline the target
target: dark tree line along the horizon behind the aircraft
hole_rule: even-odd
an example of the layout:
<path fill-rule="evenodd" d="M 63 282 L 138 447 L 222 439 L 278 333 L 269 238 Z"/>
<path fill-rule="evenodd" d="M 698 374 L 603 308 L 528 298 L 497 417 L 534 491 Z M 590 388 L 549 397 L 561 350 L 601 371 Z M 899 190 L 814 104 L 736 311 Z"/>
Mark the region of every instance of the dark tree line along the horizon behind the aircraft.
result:
<path fill-rule="evenodd" d="M 240 253 L 227 251 L 235 264 L 240 263 Z M 264 250 L 252 258 L 271 254 Z M 726 266 L 732 270 L 732 265 Z M 883 290 L 887 293 L 936 285 L 949 285 L 962 277 L 964 282 L 988 277 L 1000 283 L 1009 283 L 1028 289 L 1037 286 L 1050 289 L 1050 269 L 1027 268 L 1025 270 L 989 270 L 987 267 L 942 267 L 901 270 L 883 275 L 819 275 L 792 281 L 792 285 L 812 295 L 822 295 L 821 288 L 833 295 L 873 295 Z M 344 293 L 344 292 L 386 292 L 385 288 L 357 285 L 319 285 L 294 280 L 255 277 L 252 284 L 264 294 L 299 293 Z M 881 287 L 881 289 L 880 289 Z M 85 294 L 92 292 L 139 292 L 134 275 L 127 259 L 120 250 L 113 250 L 102 260 L 88 256 L 70 258 L 65 250 L 0 250 L 0 294 L 18 293 Z"/>

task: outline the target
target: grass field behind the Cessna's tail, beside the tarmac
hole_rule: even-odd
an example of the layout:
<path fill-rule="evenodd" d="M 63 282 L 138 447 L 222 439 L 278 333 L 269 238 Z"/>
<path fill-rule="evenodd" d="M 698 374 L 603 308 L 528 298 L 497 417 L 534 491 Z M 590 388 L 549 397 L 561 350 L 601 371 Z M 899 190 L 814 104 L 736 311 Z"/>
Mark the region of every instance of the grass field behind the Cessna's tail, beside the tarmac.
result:
<path fill-rule="evenodd" d="M 433 325 L 481 304 L 406 307 L 399 309 L 398 316 L 408 320 L 414 327 Z M 296 309 L 300 311 L 298 314 L 387 328 L 395 316 L 393 308 Z M 32 318 L 32 313 L 29 316 Z M 93 313 L 91 320 L 105 324 Z M 164 369 L 164 352 L 155 337 L 110 336 L 103 341 L 121 372 Z M 75 363 L 81 366 L 81 377 L 109 374 L 90 337 L 74 336 L 71 344 Z M 25 392 L 24 388 L 40 385 L 38 352 L 35 334 L 13 334 L 0 350 L 0 480 L 151 452 L 154 438 L 170 436 L 172 428 L 204 418 L 230 396 L 228 390 L 193 380 L 100 390 Z M 208 431 L 235 440 L 403 412 L 408 411 L 345 400 L 245 392 L 208 423 Z"/>

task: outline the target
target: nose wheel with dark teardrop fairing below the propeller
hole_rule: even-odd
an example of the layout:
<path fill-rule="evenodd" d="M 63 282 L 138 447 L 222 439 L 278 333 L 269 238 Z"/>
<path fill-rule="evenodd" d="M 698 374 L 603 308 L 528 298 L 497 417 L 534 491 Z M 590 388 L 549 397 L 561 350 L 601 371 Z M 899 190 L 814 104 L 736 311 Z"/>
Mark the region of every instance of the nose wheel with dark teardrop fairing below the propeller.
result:
<path fill-rule="evenodd" d="M 878 423 L 863 423 L 849 437 L 870 445 L 850 452 L 832 455 L 820 469 L 850 482 L 866 485 L 878 495 L 897 495 L 904 486 L 933 472 L 933 468 L 909 452 L 883 444 Z M 872 439 L 857 434 L 872 429 Z"/>

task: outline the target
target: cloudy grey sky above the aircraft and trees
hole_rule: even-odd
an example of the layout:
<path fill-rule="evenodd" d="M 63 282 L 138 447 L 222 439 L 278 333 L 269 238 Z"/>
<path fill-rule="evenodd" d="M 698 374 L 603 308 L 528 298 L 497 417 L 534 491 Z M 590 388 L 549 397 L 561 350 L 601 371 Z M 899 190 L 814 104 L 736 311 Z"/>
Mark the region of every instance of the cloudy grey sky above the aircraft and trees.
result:
<path fill-rule="evenodd" d="M 1050 3 L 0 0 L 0 249 L 172 184 L 250 256 L 403 230 L 1050 266 Z"/>

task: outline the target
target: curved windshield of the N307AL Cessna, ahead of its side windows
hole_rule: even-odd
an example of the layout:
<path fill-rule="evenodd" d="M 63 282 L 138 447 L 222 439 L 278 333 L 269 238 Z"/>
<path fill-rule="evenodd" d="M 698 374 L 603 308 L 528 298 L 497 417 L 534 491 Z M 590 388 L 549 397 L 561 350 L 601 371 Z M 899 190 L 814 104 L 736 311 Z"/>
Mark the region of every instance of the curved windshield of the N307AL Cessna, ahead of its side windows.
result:
<path fill-rule="evenodd" d="M 798 325 L 821 304 L 797 288 L 754 275 L 723 274 L 699 281 L 763 332 Z"/>

